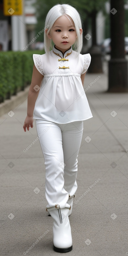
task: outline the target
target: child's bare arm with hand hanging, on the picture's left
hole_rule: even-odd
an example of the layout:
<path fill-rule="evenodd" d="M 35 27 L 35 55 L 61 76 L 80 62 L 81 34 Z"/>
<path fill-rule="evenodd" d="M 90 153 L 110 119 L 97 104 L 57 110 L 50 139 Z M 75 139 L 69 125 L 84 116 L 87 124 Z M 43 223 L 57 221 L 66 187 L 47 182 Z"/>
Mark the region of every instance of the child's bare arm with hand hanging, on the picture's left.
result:
<path fill-rule="evenodd" d="M 40 72 L 37 70 L 37 68 L 34 65 L 33 73 L 32 73 L 32 80 L 31 80 L 31 84 L 30 84 L 30 88 L 29 88 L 29 92 L 28 92 L 27 117 L 24 121 L 24 126 L 23 126 L 24 131 L 26 131 L 26 127 L 27 127 L 27 130 L 29 130 L 30 126 L 31 126 L 31 128 L 33 127 L 33 110 L 34 110 L 35 103 L 36 103 L 36 100 L 37 100 L 37 97 L 39 94 L 39 90 L 36 91 L 34 89 L 34 87 L 36 85 L 38 85 L 40 87 L 43 77 L 44 76 L 42 74 L 40 74 Z"/>

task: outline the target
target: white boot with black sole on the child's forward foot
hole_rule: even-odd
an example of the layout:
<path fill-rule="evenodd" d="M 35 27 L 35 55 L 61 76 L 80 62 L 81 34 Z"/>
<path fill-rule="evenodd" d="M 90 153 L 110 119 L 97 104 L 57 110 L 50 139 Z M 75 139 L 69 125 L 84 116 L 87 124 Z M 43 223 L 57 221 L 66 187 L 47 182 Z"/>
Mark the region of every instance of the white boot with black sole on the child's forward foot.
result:
<path fill-rule="evenodd" d="M 46 211 L 50 212 L 53 223 L 53 249 L 60 253 L 66 253 L 71 251 L 72 237 L 71 228 L 68 218 L 68 212 L 71 209 L 69 204 L 66 204 L 65 208 L 60 209 L 60 205 L 56 204 L 54 207 L 46 208 Z"/>

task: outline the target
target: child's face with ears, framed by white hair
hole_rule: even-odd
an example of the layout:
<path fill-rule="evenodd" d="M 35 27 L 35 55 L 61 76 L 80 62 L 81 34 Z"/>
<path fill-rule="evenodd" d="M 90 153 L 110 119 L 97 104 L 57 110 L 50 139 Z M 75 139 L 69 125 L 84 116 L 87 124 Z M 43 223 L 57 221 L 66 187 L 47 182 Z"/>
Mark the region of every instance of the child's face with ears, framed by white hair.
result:
<path fill-rule="evenodd" d="M 77 38 L 74 22 L 67 16 L 60 16 L 53 24 L 51 35 L 48 34 L 48 38 L 52 38 L 55 47 L 63 53 L 75 43 Z M 47 30 L 45 30 L 45 33 L 47 33 Z M 80 29 L 81 33 L 82 28 Z"/>

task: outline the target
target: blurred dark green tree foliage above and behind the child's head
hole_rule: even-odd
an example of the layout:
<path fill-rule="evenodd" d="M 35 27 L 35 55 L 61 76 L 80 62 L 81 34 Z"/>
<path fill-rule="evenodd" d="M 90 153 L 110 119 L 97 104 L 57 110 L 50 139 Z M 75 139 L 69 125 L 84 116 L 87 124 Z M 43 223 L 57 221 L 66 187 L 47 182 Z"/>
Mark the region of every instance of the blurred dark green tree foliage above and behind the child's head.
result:
<path fill-rule="evenodd" d="M 67 3 L 66 0 L 58 0 L 58 3 L 63 4 Z M 36 1 L 36 10 L 37 10 L 37 32 L 40 31 L 41 28 L 44 27 L 45 23 L 45 17 L 48 13 L 48 11 L 55 5 L 57 4 L 56 0 L 37 0 Z M 104 7 L 104 1 L 103 0 L 69 0 L 68 4 L 72 5 L 75 7 L 78 12 L 81 15 L 82 18 L 82 23 L 83 23 L 83 32 L 84 35 L 86 35 L 86 31 L 88 30 L 88 20 L 92 19 L 92 44 L 96 44 L 96 15 L 97 13 L 102 10 L 104 15 L 105 15 L 105 7 Z M 43 36 L 42 36 L 43 38 Z M 38 38 L 40 40 L 40 38 Z M 84 43 L 86 43 L 86 39 L 84 38 Z"/>

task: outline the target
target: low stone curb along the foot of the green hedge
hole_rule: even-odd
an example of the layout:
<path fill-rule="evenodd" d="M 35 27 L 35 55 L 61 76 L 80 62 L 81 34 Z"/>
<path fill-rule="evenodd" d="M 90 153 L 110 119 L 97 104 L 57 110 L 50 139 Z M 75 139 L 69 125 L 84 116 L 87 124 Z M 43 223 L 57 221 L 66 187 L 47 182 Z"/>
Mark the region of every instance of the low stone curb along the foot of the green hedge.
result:
<path fill-rule="evenodd" d="M 23 103 L 28 98 L 29 87 L 25 87 L 24 91 L 20 91 L 17 95 L 11 96 L 11 99 L 6 99 L 3 103 L 0 103 L 0 116 L 8 114 L 10 110 L 14 110 L 15 107 Z"/>

